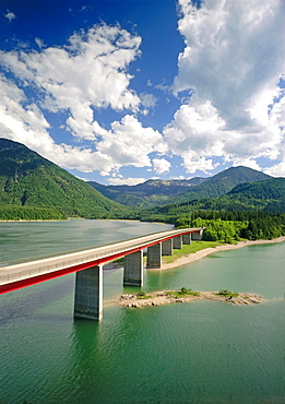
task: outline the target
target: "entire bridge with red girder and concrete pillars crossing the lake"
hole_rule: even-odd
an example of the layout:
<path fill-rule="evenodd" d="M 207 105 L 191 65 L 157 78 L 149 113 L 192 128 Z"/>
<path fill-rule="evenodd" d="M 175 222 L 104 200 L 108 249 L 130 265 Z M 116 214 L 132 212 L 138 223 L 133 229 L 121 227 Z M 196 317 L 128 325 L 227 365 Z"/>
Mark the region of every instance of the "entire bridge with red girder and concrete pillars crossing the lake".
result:
<path fill-rule="evenodd" d="M 171 256 L 182 243 L 201 240 L 203 227 L 173 229 L 108 246 L 57 254 L 56 257 L 8 262 L 0 268 L 0 294 L 35 285 L 75 272 L 74 317 L 103 318 L 103 264 L 124 257 L 123 286 L 143 286 L 143 250 L 146 268 L 162 266 L 162 256 Z"/>

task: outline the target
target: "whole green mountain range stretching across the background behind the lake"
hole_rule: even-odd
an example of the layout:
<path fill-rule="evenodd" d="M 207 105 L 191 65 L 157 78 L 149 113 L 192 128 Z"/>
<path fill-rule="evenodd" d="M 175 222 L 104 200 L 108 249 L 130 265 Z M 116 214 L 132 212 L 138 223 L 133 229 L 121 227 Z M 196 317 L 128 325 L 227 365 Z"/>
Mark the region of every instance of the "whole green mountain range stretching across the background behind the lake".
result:
<path fill-rule="evenodd" d="M 87 183 L 23 144 L 0 139 L 1 206 L 56 209 L 92 218 L 141 218 L 142 209 L 171 215 L 189 209 L 285 213 L 285 178 L 239 166 L 209 178 Z"/>

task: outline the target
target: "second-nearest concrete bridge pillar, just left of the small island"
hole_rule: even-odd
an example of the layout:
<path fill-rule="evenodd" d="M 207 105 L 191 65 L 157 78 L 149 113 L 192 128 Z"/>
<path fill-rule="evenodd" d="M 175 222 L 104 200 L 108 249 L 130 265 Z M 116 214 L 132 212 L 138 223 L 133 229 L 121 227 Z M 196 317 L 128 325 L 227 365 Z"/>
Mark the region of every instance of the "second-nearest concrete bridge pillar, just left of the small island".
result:
<path fill-rule="evenodd" d="M 123 286 L 143 286 L 143 251 L 124 257 Z"/>

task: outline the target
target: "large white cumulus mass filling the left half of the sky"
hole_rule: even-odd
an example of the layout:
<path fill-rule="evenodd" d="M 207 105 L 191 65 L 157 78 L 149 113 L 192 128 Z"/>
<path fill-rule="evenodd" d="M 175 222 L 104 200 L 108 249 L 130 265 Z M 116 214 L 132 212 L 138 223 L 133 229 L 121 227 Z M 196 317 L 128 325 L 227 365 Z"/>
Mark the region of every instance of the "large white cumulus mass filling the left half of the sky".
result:
<path fill-rule="evenodd" d="M 95 108 L 129 109 L 134 114 L 140 97 L 129 88 L 128 66 L 140 55 L 141 38 L 119 26 L 96 25 L 74 33 L 69 45 L 48 47 L 36 38 L 38 51 L 1 51 L 1 64 L 14 80 L 1 75 L 1 132 L 43 156 L 81 171 L 99 170 L 116 175 L 122 166 L 151 167 L 150 154 L 162 154 L 166 146 L 162 134 L 144 128 L 134 115 L 127 114 L 104 129 L 94 119 Z M 28 104 L 26 90 L 40 93 L 40 100 Z M 155 98 L 141 96 L 144 107 Z M 90 141 L 90 147 L 56 144 L 44 111 L 64 111 L 66 126 L 76 139 Z"/>

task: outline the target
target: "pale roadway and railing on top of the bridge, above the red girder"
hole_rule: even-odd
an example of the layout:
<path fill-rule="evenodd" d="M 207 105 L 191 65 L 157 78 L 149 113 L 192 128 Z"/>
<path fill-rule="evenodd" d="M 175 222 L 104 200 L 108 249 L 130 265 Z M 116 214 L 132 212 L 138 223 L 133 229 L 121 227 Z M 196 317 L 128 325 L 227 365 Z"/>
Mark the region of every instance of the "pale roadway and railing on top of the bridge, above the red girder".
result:
<path fill-rule="evenodd" d="M 126 241 L 114 242 L 108 246 L 99 246 L 70 253 L 60 253 L 57 257 L 37 260 L 33 259 L 33 261 L 29 262 L 16 263 L 12 265 L 8 262 L 5 266 L 0 268 L 0 285 L 47 274 L 54 271 L 64 270 L 67 268 L 72 268 L 103 258 L 114 257 L 123 252 L 127 253 L 135 248 L 143 249 L 152 242 L 159 242 L 164 239 L 178 235 L 199 233 L 201 230 L 203 230 L 203 227 L 167 230 L 128 239 Z"/>

